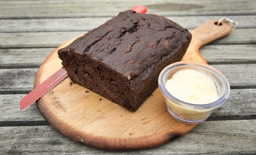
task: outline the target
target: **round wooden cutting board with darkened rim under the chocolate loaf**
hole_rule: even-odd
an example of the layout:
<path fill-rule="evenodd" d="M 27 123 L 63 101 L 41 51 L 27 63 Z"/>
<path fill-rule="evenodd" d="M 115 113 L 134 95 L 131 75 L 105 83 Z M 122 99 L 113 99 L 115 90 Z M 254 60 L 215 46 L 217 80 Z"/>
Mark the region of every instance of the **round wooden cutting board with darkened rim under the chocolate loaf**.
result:
<path fill-rule="evenodd" d="M 214 21 L 209 24 L 212 25 L 212 22 Z M 205 62 L 198 49 L 209 40 L 213 41 L 229 33 L 218 37 L 216 33 L 204 34 L 202 31 L 209 29 L 207 23 L 191 31 L 193 38 L 183 60 Z M 220 31 L 223 32 L 217 32 Z M 62 67 L 57 51 L 76 38 L 56 48 L 45 59 L 36 74 L 34 87 Z M 203 41 L 200 40 L 202 38 Z M 191 51 L 194 54 L 191 54 Z M 79 143 L 101 149 L 136 150 L 155 147 L 186 134 L 196 126 L 181 123 L 168 113 L 159 88 L 136 112 L 131 112 L 78 84 L 71 84 L 67 77 L 42 96 L 37 101 L 37 106 L 42 116 L 61 134 Z"/>

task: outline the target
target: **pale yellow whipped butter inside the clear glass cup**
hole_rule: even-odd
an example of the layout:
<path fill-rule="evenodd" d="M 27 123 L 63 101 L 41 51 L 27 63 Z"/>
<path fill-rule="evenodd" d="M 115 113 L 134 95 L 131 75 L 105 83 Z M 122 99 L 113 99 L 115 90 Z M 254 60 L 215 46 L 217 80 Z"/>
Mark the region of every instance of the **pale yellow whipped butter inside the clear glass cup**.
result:
<path fill-rule="evenodd" d="M 197 70 L 179 70 L 166 81 L 165 87 L 175 98 L 187 103 L 207 104 L 219 98 L 211 77 Z"/>

